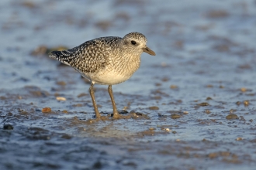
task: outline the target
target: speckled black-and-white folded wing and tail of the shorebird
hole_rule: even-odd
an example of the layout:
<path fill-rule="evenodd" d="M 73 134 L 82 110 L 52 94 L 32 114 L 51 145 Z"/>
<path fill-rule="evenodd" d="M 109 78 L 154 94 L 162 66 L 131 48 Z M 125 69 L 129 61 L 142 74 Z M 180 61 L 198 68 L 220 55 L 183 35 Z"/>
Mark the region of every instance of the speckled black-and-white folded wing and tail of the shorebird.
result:
<path fill-rule="evenodd" d="M 84 42 L 80 46 L 64 51 L 53 51 L 50 57 L 61 61 L 81 73 L 94 73 L 108 62 L 112 46 L 116 45 L 119 37 L 102 37 Z"/>

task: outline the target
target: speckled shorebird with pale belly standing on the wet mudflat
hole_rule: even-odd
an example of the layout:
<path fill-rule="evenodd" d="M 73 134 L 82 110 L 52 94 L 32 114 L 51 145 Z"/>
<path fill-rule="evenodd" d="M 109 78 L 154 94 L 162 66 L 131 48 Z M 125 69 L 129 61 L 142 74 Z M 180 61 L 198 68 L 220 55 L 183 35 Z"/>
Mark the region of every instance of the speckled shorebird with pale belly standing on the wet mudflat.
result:
<path fill-rule="evenodd" d="M 95 110 L 95 117 L 101 118 L 95 101 L 94 84 L 108 85 L 112 101 L 113 118 L 121 115 L 116 109 L 112 93 L 112 85 L 123 83 L 130 79 L 140 67 L 142 53 L 155 56 L 153 50 L 147 47 L 147 38 L 140 32 L 130 32 L 123 36 L 106 36 L 82 43 L 72 49 L 52 51 L 50 58 L 57 59 L 74 70 L 91 83 L 89 93 Z"/>

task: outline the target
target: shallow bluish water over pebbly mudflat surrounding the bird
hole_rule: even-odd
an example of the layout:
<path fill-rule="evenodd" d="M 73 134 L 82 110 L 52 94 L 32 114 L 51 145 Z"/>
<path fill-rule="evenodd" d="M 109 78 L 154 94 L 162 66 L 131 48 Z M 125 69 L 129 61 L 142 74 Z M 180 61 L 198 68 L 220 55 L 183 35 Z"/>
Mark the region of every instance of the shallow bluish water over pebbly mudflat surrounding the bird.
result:
<path fill-rule="evenodd" d="M 0 11 L 0 169 L 254 169 L 255 1 L 3 0 Z M 130 119 L 95 121 L 89 83 L 36 53 L 133 31 L 157 56 L 112 87 Z M 111 114 L 107 87 L 95 97 Z"/>

